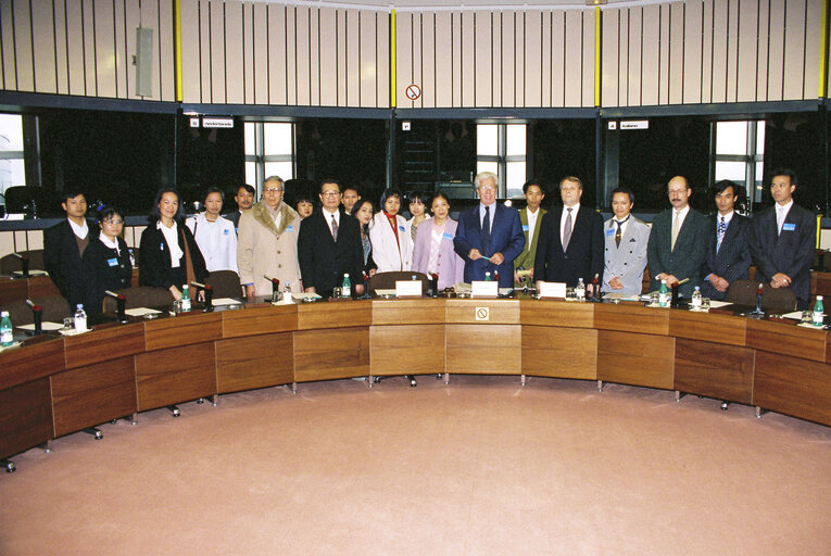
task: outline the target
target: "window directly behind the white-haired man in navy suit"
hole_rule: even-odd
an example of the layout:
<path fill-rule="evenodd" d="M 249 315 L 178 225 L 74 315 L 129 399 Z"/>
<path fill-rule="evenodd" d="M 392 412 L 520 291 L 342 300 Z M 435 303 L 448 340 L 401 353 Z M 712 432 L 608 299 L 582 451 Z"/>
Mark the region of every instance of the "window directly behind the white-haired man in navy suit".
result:
<path fill-rule="evenodd" d="M 522 197 L 527 175 L 527 127 L 526 124 L 476 126 L 476 173 L 496 174 L 499 197 Z"/>

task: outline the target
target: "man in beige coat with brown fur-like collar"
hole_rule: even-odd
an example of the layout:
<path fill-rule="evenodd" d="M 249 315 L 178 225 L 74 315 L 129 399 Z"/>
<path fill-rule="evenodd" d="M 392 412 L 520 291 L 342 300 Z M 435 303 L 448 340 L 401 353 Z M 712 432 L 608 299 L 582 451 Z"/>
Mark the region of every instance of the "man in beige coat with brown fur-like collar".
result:
<path fill-rule="evenodd" d="M 282 179 L 270 176 L 263 181 L 263 199 L 239 219 L 237 266 L 239 280 L 249 299 L 270 295 L 269 278 L 280 280 L 280 289 L 289 283 L 301 292 L 298 263 L 298 213 L 282 202 Z"/>

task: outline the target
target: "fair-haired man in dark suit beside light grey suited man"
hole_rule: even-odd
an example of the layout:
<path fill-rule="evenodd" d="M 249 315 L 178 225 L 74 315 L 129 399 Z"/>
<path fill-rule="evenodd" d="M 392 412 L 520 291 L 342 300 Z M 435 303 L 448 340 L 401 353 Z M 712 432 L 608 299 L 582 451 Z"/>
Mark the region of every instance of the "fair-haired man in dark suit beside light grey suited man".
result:
<path fill-rule="evenodd" d="M 603 277 L 603 217 L 590 207 L 580 207 L 582 194 L 579 178 L 568 176 L 559 181 L 563 206 L 542 217 L 533 280 L 574 287 L 582 278 L 587 293 L 593 294 L 592 280 Z"/>

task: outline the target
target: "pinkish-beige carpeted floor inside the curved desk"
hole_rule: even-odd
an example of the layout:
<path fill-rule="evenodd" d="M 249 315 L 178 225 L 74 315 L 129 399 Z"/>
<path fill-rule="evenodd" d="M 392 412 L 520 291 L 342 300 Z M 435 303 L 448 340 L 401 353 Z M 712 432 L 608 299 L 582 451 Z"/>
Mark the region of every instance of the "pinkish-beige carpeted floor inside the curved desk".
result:
<path fill-rule="evenodd" d="M 831 428 L 590 381 L 337 380 L 76 433 L 0 554 L 828 554 Z"/>

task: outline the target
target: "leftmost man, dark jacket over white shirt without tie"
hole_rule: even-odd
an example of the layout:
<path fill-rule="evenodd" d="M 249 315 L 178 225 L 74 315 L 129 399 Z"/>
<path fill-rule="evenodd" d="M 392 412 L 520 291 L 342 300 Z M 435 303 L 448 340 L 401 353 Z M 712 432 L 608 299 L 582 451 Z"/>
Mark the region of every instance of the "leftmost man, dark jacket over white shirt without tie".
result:
<path fill-rule="evenodd" d="M 70 307 L 84 303 L 80 257 L 90 240 L 98 239 L 93 220 L 87 220 L 87 200 L 80 191 L 63 193 L 66 219 L 43 232 L 43 264 Z"/>

